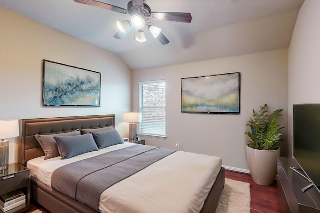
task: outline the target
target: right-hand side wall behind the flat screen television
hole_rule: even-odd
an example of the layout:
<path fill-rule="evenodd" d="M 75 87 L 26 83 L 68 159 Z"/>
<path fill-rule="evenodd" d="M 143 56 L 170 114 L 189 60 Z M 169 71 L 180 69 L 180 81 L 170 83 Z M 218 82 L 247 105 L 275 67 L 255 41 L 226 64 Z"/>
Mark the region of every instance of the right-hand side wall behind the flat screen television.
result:
<path fill-rule="evenodd" d="M 288 49 L 288 139 L 292 156 L 292 104 L 320 103 L 320 1 L 302 4 Z"/>

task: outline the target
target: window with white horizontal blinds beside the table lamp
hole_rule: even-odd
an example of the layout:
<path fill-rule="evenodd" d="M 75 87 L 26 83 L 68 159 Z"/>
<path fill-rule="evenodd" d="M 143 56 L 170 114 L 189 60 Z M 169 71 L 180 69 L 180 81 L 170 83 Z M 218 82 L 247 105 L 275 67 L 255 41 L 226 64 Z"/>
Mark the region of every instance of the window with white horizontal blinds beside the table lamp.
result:
<path fill-rule="evenodd" d="M 139 83 L 140 136 L 165 138 L 165 81 Z"/>

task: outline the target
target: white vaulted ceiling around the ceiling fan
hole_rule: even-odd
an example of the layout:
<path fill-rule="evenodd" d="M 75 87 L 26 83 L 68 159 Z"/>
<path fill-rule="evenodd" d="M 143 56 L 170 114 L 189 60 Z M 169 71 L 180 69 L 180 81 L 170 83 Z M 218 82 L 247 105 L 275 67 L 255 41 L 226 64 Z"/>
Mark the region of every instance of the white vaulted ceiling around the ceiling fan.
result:
<path fill-rule="evenodd" d="M 99 0 L 127 8 L 128 0 Z M 190 12 L 191 23 L 155 21 L 170 41 L 161 45 L 145 31 L 145 42 L 113 35 L 121 14 L 73 0 L 0 0 L 13 10 L 54 29 L 119 55 L 130 69 L 288 48 L 303 0 L 145 0 L 152 11 Z"/>

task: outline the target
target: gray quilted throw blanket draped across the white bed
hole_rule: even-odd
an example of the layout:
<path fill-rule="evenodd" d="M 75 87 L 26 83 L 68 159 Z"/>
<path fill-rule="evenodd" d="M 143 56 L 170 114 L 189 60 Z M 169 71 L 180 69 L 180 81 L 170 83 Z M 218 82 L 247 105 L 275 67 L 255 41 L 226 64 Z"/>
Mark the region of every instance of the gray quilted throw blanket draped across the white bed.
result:
<path fill-rule="evenodd" d="M 111 151 L 54 170 L 51 187 L 98 212 L 104 190 L 174 152 L 139 144 Z"/>

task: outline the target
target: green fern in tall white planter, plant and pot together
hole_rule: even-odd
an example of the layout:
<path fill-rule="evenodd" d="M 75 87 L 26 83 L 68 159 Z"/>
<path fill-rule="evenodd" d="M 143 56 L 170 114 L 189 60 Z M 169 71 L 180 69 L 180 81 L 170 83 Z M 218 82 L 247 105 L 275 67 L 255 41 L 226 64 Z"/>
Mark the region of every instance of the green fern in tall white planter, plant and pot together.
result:
<path fill-rule="evenodd" d="M 248 121 L 251 132 L 245 134 L 250 138 L 246 146 L 246 159 L 252 180 L 263 186 L 273 183 L 276 176 L 276 158 L 280 156 L 280 130 L 284 127 L 276 124 L 282 109 L 269 113 L 267 104 L 260 106 Z"/>

